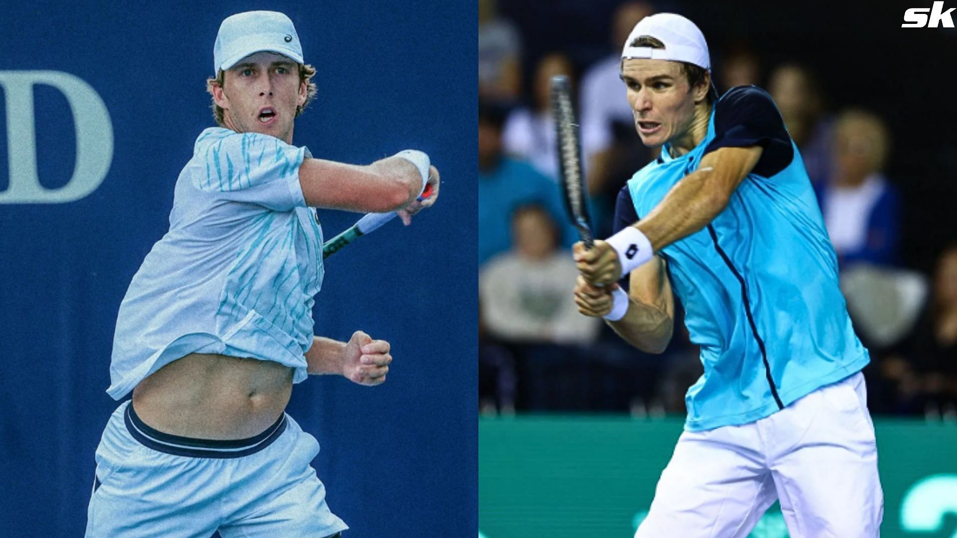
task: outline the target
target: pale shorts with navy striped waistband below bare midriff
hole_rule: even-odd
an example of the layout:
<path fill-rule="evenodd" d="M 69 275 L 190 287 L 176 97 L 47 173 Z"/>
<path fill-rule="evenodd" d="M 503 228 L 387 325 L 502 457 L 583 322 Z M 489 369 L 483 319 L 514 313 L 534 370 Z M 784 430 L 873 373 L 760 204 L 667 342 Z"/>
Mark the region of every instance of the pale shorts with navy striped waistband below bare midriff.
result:
<path fill-rule="evenodd" d="M 326 538 L 347 528 L 310 462 L 319 442 L 289 415 L 235 441 L 170 436 L 127 401 L 97 447 L 87 538 Z"/>

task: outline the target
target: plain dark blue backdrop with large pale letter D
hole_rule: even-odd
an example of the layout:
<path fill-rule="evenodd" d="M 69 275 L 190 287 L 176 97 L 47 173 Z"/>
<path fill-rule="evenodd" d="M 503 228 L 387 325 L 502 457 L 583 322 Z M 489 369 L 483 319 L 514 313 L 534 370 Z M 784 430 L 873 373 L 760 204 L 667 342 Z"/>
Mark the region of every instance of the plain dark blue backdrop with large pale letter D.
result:
<path fill-rule="evenodd" d="M 362 164 L 416 147 L 443 179 L 412 227 L 326 265 L 316 333 L 389 340 L 389 381 L 314 377 L 289 413 L 349 538 L 475 536 L 475 4 L 20 4 L 0 5 L 0 536 L 82 534 L 117 311 L 213 124 L 219 23 L 247 10 L 288 14 L 318 69 L 294 144 Z M 320 216 L 331 236 L 358 215 Z"/>

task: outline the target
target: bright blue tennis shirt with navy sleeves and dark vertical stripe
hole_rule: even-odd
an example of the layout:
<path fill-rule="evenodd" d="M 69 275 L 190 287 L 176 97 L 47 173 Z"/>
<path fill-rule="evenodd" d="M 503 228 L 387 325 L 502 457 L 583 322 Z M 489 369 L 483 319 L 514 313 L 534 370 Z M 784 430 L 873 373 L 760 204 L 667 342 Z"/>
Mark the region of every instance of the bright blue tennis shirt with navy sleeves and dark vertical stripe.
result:
<path fill-rule="evenodd" d="M 726 146 L 764 151 L 722 213 L 657 253 L 701 347 L 704 375 L 685 396 L 691 431 L 771 415 L 869 361 L 801 155 L 763 90 L 728 91 L 687 154 L 672 158 L 663 147 L 619 195 L 615 227 L 650 213 L 705 153 Z"/>

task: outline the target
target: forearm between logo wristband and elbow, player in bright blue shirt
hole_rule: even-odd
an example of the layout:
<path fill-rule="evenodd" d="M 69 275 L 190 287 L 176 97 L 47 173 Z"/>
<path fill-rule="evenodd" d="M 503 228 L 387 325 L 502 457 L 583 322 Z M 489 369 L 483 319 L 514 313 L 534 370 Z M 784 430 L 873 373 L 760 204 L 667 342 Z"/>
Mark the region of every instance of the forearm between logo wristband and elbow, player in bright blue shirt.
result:
<path fill-rule="evenodd" d="M 681 179 L 661 203 L 634 225 L 655 252 L 704 228 L 727 206 L 728 198 L 708 185 L 711 170 Z"/>

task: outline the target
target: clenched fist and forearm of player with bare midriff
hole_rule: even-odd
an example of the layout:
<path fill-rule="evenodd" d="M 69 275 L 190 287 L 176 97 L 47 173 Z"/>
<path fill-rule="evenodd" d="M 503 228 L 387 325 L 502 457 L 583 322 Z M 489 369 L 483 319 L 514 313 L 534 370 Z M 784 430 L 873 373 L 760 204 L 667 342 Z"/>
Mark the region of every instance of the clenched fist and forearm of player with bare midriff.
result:
<path fill-rule="evenodd" d="M 361 330 L 352 333 L 348 342 L 321 336 L 314 337 L 305 353 L 310 375 L 343 375 L 360 385 L 379 385 L 386 381 L 392 355 L 389 342 L 373 340 Z"/>

